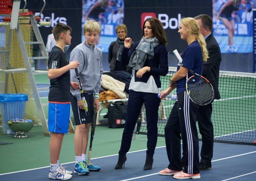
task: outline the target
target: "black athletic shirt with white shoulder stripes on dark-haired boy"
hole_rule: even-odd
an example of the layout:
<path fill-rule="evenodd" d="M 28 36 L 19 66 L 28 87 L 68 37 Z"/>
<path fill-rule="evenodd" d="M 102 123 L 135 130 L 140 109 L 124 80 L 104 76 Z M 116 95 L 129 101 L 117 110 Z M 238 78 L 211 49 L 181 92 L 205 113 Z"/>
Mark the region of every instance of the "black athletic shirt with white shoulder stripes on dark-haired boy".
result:
<path fill-rule="evenodd" d="M 48 59 L 49 69 L 59 69 L 69 64 L 66 54 L 60 47 L 54 46 Z M 69 70 L 61 76 L 50 80 L 50 91 L 48 101 L 70 102 L 70 72 Z"/>

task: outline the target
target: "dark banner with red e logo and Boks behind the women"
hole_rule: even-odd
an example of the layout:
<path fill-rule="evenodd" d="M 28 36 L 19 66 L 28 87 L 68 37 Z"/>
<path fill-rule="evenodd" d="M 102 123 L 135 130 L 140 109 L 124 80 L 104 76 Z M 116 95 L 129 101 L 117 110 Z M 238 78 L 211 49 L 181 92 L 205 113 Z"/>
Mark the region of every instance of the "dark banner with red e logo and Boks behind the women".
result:
<path fill-rule="evenodd" d="M 195 3 L 196 2 L 196 3 Z M 142 36 L 142 25 L 149 17 L 158 18 L 167 35 L 167 50 L 172 53 L 174 49 L 182 52 L 187 42 L 180 39 L 179 23 L 182 17 L 195 17 L 199 14 L 212 15 L 212 1 L 124 1 L 124 24 L 128 28 L 128 36 L 133 41 L 139 41 Z"/>

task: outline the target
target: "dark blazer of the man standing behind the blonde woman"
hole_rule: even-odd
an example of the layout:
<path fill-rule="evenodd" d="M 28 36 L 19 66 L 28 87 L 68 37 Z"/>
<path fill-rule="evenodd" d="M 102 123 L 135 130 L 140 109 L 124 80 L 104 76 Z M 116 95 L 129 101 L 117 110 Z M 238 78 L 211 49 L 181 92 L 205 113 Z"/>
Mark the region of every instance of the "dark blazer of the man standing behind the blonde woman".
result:
<path fill-rule="evenodd" d="M 220 92 L 218 89 L 221 62 L 220 47 L 212 34 L 205 39 L 205 42 L 209 52 L 209 58 L 206 62 L 203 62 L 203 76 L 212 84 L 214 89 L 214 99 L 220 99 Z"/>

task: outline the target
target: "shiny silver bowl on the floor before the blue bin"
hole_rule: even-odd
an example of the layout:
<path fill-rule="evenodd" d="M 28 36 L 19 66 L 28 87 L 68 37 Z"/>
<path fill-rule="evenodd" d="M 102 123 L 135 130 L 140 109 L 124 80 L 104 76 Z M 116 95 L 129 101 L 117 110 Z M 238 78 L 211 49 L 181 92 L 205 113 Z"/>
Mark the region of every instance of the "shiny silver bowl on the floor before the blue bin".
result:
<path fill-rule="evenodd" d="M 27 119 L 11 119 L 7 121 L 9 128 L 16 133 L 15 138 L 27 138 L 25 134 L 32 129 L 35 121 L 26 122 Z"/>

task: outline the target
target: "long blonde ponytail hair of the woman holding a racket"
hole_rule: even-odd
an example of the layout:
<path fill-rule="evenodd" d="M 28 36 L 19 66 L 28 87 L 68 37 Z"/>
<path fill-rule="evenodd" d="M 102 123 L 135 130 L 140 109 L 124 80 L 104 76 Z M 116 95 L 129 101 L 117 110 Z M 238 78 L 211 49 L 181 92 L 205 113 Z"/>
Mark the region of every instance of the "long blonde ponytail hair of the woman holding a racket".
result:
<path fill-rule="evenodd" d="M 189 28 L 189 34 L 195 34 L 196 35 L 196 40 L 201 46 L 202 49 L 202 55 L 203 55 L 203 61 L 206 62 L 208 57 L 208 50 L 206 49 L 206 42 L 204 40 L 204 37 L 202 34 L 199 33 L 199 25 L 197 21 L 194 18 L 182 18 L 180 22 Z"/>

